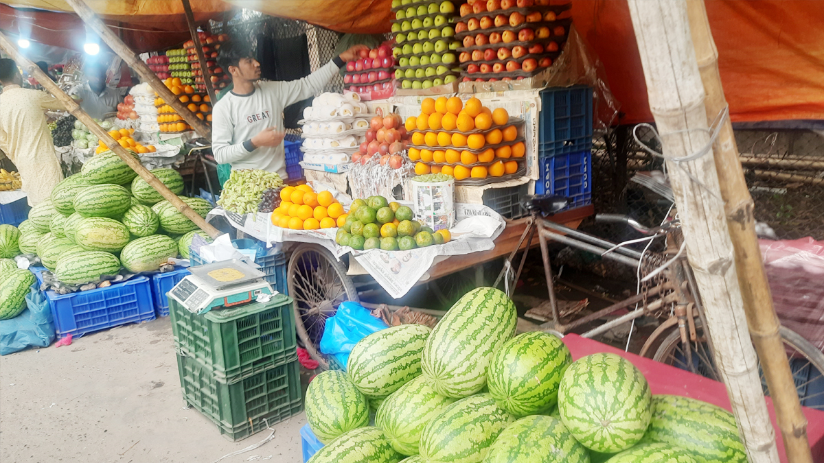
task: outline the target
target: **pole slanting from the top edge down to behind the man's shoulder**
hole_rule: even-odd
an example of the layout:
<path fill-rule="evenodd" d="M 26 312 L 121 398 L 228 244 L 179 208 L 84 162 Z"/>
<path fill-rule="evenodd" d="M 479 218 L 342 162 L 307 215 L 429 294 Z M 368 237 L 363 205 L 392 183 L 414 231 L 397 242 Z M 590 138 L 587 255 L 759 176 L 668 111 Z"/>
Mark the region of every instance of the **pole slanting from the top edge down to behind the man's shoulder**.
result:
<path fill-rule="evenodd" d="M 129 64 L 130 68 L 133 68 L 136 72 L 138 72 L 138 75 L 141 79 L 143 79 L 143 82 L 148 82 L 154 91 L 157 91 L 157 94 L 161 96 L 163 101 L 166 101 L 166 105 L 170 105 L 174 108 L 177 111 L 177 114 L 182 116 L 183 119 L 185 119 L 185 121 L 192 126 L 192 129 L 194 129 L 195 132 L 197 132 L 201 137 L 209 139 L 212 138 L 212 129 L 209 129 L 206 122 L 198 119 L 198 116 L 194 115 L 194 113 L 190 111 L 186 105 L 178 100 L 178 96 L 166 87 L 166 84 L 164 84 L 160 78 L 152 72 L 152 69 L 149 69 L 146 63 L 143 63 L 143 60 L 138 58 L 138 56 L 134 54 L 134 52 L 129 49 L 129 47 L 126 46 L 126 44 L 124 44 L 117 35 L 112 33 L 109 27 L 106 26 L 99 17 L 97 17 L 95 12 L 93 12 L 86 4 L 85 0 L 66 0 L 66 2 L 74 8 L 74 11 L 77 12 L 77 16 L 80 16 L 92 30 L 101 36 L 101 39 L 109 45 L 112 51 L 118 54 L 120 58 L 123 58 L 123 60 Z"/>

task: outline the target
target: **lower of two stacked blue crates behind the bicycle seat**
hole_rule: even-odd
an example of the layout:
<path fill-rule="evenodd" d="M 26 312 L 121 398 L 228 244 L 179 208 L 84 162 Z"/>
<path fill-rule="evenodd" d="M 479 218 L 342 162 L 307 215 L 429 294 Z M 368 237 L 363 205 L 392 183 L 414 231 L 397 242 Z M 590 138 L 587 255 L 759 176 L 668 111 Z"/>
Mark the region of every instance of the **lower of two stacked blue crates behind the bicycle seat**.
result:
<path fill-rule="evenodd" d="M 541 179 L 535 194 L 559 194 L 569 198 L 566 209 L 592 203 L 592 152 L 576 152 L 538 160 Z"/>

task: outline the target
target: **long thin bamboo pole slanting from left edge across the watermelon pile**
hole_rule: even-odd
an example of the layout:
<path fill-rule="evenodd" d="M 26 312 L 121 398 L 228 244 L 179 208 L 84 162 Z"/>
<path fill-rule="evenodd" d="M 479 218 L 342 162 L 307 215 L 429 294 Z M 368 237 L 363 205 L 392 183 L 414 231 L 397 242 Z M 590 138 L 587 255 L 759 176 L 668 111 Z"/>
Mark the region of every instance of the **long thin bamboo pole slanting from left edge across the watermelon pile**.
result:
<path fill-rule="evenodd" d="M 183 215 L 188 217 L 195 225 L 200 227 L 201 230 L 208 233 L 209 236 L 213 238 L 218 237 L 221 235 L 221 232 L 209 225 L 205 220 L 204 217 L 200 217 L 198 213 L 195 213 L 192 208 L 189 207 L 188 204 L 184 203 L 177 197 L 176 194 L 172 193 L 170 189 L 166 188 L 166 185 L 163 185 L 163 182 L 157 180 L 157 177 L 152 174 L 152 172 L 147 171 L 146 167 L 131 156 L 128 152 L 126 152 L 124 147 L 121 147 L 119 143 L 115 141 L 115 138 L 111 138 L 111 135 L 105 131 L 100 125 L 95 122 L 95 119 L 91 119 L 91 116 L 86 113 L 86 111 L 82 110 L 80 105 L 77 105 L 71 96 L 66 95 L 60 87 L 57 86 L 52 80 L 44 74 L 43 71 L 35 64 L 32 63 L 29 58 L 23 56 L 18 50 L 17 47 L 12 44 L 11 40 L 8 40 L 6 35 L 3 35 L 0 32 L 0 49 L 5 51 L 15 62 L 21 65 L 26 71 L 28 71 L 32 76 L 37 79 L 37 82 L 40 82 L 46 90 L 48 90 L 55 98 L 58 99 L 63 105 L 66 107 L 66 110 L 78 120 L 80 120 L 83 124 L 86 124 L 87 128 L 94 133 L 97 138 L 100 138 L 105 146 L 110 147 L 110 149 L 117 153 L 120 159 L 124 160 L 126 164 L 129 164 L 129 167 L 133 169 L 133 171 L 137 172 L 143 180 L 146 180 L 146 183 L 152 185 L 152 188 L 157 190 L 157 193 L 162 194 L 163 198 L 166 198 L 173 206 L 177 208 Z"/>

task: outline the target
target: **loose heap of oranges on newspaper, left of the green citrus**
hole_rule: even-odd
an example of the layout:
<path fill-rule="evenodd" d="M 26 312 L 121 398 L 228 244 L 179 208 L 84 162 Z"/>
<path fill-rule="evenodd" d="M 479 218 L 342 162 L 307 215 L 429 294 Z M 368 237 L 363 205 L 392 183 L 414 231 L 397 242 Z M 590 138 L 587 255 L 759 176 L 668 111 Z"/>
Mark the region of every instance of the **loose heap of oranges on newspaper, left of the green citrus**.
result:
<path fill-rule="evenodd" d="M 280 190 L 280 206 L 272 213 L 272 224 L 292 230 L 342 227 L 347 213 L 329 191 L 316 193 L 309 185 Z"/>

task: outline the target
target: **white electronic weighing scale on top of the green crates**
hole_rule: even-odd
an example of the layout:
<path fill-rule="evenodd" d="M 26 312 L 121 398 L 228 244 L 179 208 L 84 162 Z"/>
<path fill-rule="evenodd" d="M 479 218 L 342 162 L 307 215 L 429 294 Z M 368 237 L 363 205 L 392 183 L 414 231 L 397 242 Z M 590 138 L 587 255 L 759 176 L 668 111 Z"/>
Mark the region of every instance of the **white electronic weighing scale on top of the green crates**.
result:
<path fill-rule="evenodd" d="M 265 274 L 241 260 L 225 260 L 190 267 L 190 275 L 171 288 L 174 298 L 187 311 L 204 314 L 212 309 L 253 302 L 260 294 L 274 294 Z"/>

